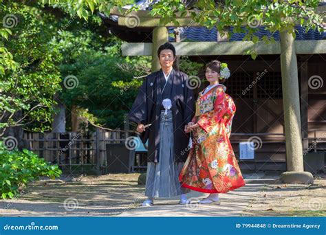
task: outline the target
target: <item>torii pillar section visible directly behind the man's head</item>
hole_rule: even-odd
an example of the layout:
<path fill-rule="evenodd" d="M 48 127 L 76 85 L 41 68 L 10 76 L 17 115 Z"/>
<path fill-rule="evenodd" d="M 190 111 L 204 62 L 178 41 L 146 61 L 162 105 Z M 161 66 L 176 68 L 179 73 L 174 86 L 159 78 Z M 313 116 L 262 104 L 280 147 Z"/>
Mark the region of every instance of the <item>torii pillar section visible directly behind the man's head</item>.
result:
<path fill-rule="evenodd" d="M 157 58 L 157 49 L 160 47 L 160 45 L 166 43 L 169 41 L 169 33 L 166 27 L 158 26 L 155 27 L 153 30 L 153 47 L 152 47 L 152 67 L 151 71 L 152 73 L 154 71 L 160 70 L 160 61 Z"/>

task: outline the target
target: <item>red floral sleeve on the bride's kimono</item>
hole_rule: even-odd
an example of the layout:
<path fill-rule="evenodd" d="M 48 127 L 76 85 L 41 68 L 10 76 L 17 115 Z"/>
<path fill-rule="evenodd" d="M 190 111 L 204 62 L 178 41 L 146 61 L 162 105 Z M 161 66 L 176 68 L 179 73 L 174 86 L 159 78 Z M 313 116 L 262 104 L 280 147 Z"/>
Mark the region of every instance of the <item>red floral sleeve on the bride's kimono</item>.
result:
<path fill-rule="evenodd" d="M 197 124 L 204 129 L 207 133 L 213 130 L 214 126 L 222 119 L 226 113 L 226 94 L 224 89 L 218 87 L 216 90 L 216 98 L 214 102 L 214 109 L 199 116 Z"/>

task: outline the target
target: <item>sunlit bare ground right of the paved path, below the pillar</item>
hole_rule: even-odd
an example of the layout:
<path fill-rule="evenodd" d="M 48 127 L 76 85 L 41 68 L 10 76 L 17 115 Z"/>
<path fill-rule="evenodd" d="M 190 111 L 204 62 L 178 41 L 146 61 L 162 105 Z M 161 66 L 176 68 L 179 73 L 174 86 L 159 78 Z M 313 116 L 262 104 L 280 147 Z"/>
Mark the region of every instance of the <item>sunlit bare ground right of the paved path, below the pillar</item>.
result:
<path fill-rule="evenodd" d="M 314 185 L 265 185 L 243 216 L 326 216 L 326 176 Z"/>

